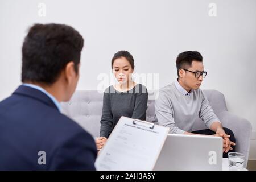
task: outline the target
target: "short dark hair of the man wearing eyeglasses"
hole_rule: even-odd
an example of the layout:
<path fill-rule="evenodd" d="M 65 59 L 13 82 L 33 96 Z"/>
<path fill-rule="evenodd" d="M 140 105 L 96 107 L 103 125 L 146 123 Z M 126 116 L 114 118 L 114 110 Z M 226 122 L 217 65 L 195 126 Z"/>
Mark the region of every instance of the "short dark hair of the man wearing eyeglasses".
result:
<path fill-rule="evenodd" d="M 191 67 L 192 61 L 203 61 L 202 55 L 197 51 L 185 51 L 181 52 L 176 59 L 177 75 L 179 77 L 179 70 Z"/>

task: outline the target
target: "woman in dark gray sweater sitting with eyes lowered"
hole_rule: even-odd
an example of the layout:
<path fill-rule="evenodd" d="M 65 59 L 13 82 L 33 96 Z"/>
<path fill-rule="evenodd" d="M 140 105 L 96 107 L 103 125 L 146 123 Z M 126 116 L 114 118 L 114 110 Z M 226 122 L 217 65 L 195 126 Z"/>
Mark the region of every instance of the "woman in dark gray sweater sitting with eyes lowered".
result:
<path fill-rule="evenodd" d="M 96 139 L 98 150 L 104 146 L 121 116 L 146 119 L 147 88 L 131 78 L 134 71 L 133 56 L 128 51 L 115 53 L 112 69 L 118 84 L 109 86 L 104 92 L 100 137 Z"/>

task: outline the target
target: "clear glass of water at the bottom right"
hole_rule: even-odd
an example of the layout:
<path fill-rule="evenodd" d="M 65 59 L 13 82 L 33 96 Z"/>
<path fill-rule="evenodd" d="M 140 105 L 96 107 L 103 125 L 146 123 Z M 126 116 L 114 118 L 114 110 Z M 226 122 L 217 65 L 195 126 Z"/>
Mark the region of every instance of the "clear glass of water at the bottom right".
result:
<path fill-rule="evenodd" d="M 229 152 L 229 170 L 230 171 L 241 171 L 245 164 L 245 155 L 239 152 Z"/>

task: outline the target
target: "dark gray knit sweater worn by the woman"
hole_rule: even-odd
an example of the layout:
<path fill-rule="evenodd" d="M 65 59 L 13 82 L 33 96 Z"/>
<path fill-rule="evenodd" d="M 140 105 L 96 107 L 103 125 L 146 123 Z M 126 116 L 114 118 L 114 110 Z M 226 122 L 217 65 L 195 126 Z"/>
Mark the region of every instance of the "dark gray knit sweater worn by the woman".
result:
<path fill-rule="evenodd" d="M 144 85 L 137 84 L 127 92 L 118 92 L 109 86 L 104 92 L 100 137 L 108 138 L 121 116 L 146 119 L 148 93 Z"/>

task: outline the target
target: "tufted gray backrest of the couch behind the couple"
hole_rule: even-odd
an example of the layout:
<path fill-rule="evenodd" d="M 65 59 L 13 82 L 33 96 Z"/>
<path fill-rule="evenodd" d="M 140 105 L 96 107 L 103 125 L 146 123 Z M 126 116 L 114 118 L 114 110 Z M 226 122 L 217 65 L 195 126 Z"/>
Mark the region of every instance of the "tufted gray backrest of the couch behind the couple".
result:
<path fill-rule="evenodd" d="M 203 92 L 217 116 L 221 111 L 227 110 L 225 98 L 221 92 L 217 90 L 203 90 Z M 158 94 L 151 93 L 151 95 L 157 96 Z M 102 99 L 103 93 L 99 93 L 97 90 L 77 90 L 69 102 L 61 103 L 62 111 L 65 115 L 79 123 L 93 137 L 98 137 L 100 134 Z M 151 97 L 147 104 L 146 121 L 148 122 L 156 121 L 154 104 L 155 100 Z M 201 119 L 197 118 L 192 130 L 205 128 Z"/>

